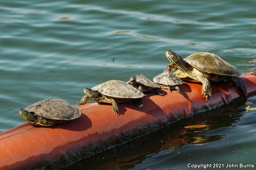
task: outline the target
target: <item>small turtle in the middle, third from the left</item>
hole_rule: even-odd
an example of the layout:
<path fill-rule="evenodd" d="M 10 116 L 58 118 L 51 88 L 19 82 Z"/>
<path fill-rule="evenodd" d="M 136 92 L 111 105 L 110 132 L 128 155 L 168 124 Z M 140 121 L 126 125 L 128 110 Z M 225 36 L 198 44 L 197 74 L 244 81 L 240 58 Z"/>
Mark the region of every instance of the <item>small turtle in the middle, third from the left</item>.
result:
<path fill-rule="evenodd" d="M 138 74 L 136 77 L 131 77 L 127 83 L 140 90 L 141 92 L 153 91 L 160 96 L 164 95 L 164 93 L 158 89 L 158 85 L 156 85 L 154 82 L 152 82 L 142 74 Z"/>

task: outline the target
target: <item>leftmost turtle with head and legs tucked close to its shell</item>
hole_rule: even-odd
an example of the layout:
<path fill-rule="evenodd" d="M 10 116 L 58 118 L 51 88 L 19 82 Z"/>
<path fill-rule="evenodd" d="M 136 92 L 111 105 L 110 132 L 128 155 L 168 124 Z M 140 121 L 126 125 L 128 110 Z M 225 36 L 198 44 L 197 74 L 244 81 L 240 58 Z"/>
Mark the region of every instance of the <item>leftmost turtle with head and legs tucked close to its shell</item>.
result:
<path fill-rule="evenodd" d="M 53 126 L 81 116 L 81 112 L 67 101 L 46 99 L 19 110 L 20 116 L 34 126 Z"/>

